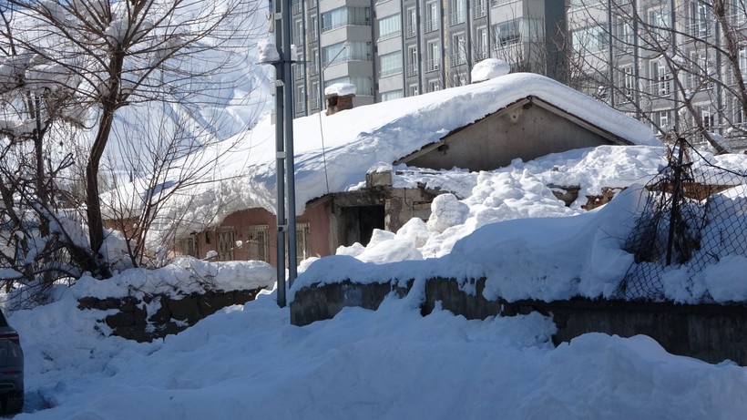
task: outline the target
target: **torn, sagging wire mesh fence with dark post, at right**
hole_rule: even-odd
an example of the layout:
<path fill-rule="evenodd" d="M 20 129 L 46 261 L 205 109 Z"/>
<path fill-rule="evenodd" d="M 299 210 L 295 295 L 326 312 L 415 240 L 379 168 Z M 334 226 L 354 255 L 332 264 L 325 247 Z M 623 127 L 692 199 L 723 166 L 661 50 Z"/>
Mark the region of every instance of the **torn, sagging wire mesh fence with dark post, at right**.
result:
<path fill-rule="evenodd" d="M 721 168 L 680 139 L 646 188 L 648 200 L 625 244 L 635 260 L 615 297 L 665 301 L 685 292 L 711 302 L 704 271 L 724 259 L 747 258 L 747 169 Z"/>

